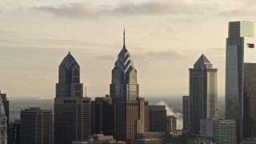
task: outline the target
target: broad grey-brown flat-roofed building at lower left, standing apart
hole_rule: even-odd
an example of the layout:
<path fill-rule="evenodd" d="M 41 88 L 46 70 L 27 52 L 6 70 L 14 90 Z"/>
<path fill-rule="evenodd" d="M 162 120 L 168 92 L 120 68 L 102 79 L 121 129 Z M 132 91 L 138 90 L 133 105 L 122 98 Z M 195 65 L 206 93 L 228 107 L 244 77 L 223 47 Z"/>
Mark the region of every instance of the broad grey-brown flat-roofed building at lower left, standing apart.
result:
<path fill-rule="evenodd" d="M 21 110 L 20 137 L 22 144 L 53 143 L 52 110 L 30 107 Z"/>

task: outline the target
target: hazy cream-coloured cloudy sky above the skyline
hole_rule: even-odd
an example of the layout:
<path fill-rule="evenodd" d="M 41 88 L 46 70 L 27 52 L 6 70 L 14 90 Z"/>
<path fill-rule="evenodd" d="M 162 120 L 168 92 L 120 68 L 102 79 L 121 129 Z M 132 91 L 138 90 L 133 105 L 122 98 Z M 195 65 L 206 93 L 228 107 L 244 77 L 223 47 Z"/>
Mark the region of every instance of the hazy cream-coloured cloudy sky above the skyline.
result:
<path fill-rule="evenodd" d="M 70 50 L 87 95 L 109 94 L 126 27 L 140 94 L 188 94 L 188 69 L 205 54 L 223 95 L 228 22 L 255 22 L 255 13 L 254 0 L 0 0 L 0 89 L 54 98 Z"/>

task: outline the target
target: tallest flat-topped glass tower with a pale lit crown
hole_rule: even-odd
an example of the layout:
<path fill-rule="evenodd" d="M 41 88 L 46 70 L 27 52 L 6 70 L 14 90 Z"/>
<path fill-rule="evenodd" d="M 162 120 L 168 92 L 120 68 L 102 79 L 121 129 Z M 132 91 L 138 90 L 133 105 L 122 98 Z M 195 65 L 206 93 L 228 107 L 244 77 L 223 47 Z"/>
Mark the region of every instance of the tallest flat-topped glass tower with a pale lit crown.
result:
<path fill-rule="evenodd" d="M 237 122 L 238 142 L 244 138 L 243 117 L 245 92 L 245 63 L 256 63 L 254 48 L 254 24 L 252 22 L 230 22 L 229 37 L 226 38 L 226 119 L 235 119 Z M 250 64 L 248 64 L 250 65 Z M 246 70 L 250 66 L 246 66 Z M 255 71 L 255 70 L 254 70 Z M 246 81 L 248 82 L 248 78 Z M 254 84 L 252 83 L 250 87 Z M 246 95 L 252 98 L 252 93 Z"/>

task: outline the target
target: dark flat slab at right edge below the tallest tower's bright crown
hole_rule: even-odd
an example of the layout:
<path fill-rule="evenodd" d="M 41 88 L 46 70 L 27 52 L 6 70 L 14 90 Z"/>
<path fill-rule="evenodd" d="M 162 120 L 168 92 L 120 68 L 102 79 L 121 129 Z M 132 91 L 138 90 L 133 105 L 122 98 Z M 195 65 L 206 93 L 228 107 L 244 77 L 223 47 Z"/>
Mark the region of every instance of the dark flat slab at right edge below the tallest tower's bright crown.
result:
<path fill-rule="evenodd" d="M 256 63 L 244 63 L 244 138 L 256 137 Z"/>

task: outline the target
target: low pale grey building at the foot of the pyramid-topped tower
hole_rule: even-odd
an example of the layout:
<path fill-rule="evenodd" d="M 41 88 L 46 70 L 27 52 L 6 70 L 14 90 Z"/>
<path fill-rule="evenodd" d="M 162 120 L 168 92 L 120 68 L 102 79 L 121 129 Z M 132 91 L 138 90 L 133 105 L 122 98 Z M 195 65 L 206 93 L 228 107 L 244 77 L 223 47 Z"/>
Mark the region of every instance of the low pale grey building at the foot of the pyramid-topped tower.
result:
<path fill-rule="evenodd" d="M 218 144 L 236 143 L 236 122 L 230 119 L 206 118 L 201 120 L 201 137 L 212 138 Z"/>

